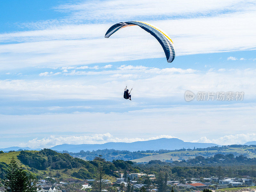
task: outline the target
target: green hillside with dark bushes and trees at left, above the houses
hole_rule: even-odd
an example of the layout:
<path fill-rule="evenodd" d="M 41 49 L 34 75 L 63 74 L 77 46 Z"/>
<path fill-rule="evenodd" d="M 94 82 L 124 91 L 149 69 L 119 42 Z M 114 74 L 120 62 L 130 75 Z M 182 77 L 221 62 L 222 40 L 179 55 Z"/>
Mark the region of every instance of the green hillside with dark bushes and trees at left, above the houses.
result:
<path fill-rule="evenodd" d="M 96 157 L 93 161 L 84 161 L 73 158 L 66 153 L 44 149 L 41 151 L 17 151 L 0 154 L 0 175 L 4 175 L 1 172 L 5 172 L 6 165 L 10 163 L 12 157 L 23 169 L 35 173 L 38 178 L 52 176 L 60 180 L 67 178 L 95 179 L 99 164 L 103 166 L 109 180 L 118 177 L 114 171 L 123 171 L 124 167 L 134 170 L 131 161 L 116 160 L 109 162 L 100 157 Z"/>

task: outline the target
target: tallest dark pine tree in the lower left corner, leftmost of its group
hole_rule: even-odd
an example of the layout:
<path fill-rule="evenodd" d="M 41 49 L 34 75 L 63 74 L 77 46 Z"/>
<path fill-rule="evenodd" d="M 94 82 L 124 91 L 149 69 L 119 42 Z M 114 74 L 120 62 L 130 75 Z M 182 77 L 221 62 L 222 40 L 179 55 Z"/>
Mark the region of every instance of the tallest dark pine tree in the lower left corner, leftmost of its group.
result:
<path fill-rule="evenodd" d="M 15 161 L 14 157 L 12 157 L 12 160 L 9 164 L 9 167 L 6 173 L 7 181 L 5 182 L 5 188 L 7 189 L 8 192 L 15 192 L 16 178 L 17 178 L 18 171 L 19 171 L 18 164 Z"/>

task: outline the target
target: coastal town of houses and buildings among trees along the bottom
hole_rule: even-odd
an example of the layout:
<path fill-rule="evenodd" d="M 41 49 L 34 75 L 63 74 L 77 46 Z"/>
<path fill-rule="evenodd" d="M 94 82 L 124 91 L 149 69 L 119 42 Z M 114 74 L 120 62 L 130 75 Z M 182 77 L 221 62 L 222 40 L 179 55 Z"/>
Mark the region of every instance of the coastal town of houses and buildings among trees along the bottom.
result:
<path fill-rule="evenodd" d="M 145 188 L 148 192 L 157 191 L 156 176 L 154 174 L 145 173 L 118 173 L 120 178 L 116 178 L 115 181 L 103 179 L 101 180 L 108 189 L 103 189 L 105 192 L 124 192 L 128 186 L 128 182 L 131 183 L 133 191 L 140 191 L 141 188 Z M 147 183 L 150 181 L 150 184 Z M 146 182 L 145 182 L 146 181 Z M 87 179 L 79 180 L 68 178 L 64 181 L 59 181 L 56 178 L 46 177 L 45 179 L 39 179 L 36 183 L 36 192 L 89 192 L 92 191 L 92 185 L 94 182 L 100 182 L 99 180 Z M 145 184 L 146 183 L 146 184 Z M 252 182 L 250 176 L 244 175 L 244 178 L 191 178 L 191 180 L 167 180 L 167 186 L 175 188 L 179 191 L 202 191 L 204 189 L 222 189 L 222 188 L 237 188 L 237 187 L 252 187 L 255 183 Z M 76 189 L 70 190 L 68 186 L 75 186 Z M 6 188 L 0 187 L 0 192 L 6 192 Z"/>

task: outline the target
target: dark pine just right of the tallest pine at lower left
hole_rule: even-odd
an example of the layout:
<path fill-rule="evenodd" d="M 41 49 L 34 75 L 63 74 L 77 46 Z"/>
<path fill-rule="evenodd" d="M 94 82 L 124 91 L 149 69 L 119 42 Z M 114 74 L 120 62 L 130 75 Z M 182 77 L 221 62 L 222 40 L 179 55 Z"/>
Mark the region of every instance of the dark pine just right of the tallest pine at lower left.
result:
<path fill-rule="evenodd" d="M 28 185 L 27 173 L 20 167 L 16 174 L 15 192 L 28 192 Z"/>

